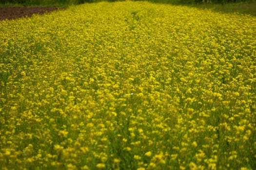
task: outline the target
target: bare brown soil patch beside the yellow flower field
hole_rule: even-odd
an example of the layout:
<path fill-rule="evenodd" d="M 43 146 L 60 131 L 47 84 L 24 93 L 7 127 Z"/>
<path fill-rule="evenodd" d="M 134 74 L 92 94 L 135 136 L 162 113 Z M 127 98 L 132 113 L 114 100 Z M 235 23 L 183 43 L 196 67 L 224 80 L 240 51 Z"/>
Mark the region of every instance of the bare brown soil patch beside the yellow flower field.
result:
<path fill-rule="evenodd" d="M 33 14 L 44 14 L 63 8 L 54 7 L 0 7 L 0 20 L 31 17 Z"/>

